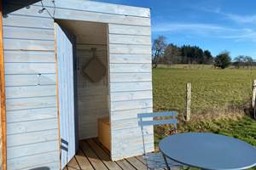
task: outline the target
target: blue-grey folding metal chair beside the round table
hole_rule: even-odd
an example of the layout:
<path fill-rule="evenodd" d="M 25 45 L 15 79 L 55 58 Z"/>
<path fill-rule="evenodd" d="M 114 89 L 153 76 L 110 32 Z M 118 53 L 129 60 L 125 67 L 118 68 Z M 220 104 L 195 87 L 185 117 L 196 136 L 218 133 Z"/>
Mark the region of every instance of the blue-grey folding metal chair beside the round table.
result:
<path fill-rule="evenodd" d="M 172 116 L 172 118 L 170 118 Z M 167 167 L 167 169 L 171 169 L 171 167 L 183 167 L 182 164 L 172 161 L 166 156 L 163 156 L 161 152 L 157 153 L 147 153 L 145 147 L 145 128 L 147 126 L 159 126 L 159 125 L 169 125 L 168 131 L 171 133 L 171 125 L 173 126 L 173 132 L 177 133 L 177 116 L 176 111 L 166 111 L 166 112 L 154 112 L 154 113 L 142 113 L 138 114 L 138 124 L 141 127 L 142 136 L 143 136 L 143 158 L 147 163 L 147 167 L 149 169 L 157 169 Z M 160 120 L 154 120 L 154 118 L 160 117 Z M 169 117 L 169 118 L 168 118 Z"/>

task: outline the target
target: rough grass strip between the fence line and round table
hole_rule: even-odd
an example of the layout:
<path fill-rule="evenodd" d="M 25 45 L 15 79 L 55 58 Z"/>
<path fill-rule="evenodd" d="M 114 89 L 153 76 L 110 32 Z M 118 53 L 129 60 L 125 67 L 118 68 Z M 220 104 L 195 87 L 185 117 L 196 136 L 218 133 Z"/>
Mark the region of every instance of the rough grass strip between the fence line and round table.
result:
<path fill-rule="evenodd" d="M 156 127 L 155 144 L 165 137 L 165 127 Z M 249 116 L 180 122 L 178 132 L 210 132 L 232 136 L 256 146 L 256 122 Z"/>

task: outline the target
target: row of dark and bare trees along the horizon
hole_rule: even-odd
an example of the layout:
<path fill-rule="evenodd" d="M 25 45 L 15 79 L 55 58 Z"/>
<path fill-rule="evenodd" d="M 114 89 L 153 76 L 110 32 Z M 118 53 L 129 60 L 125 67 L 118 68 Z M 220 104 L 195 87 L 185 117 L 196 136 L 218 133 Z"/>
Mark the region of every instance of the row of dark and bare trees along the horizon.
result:
<path fill-rule="evenodd" d="M 203 50 L 197 46 L 183 45 L 178 47 L 173 43 L 167 44 L 166 37 L 163 36 L 154 39 L 152 54 L 153 67 L 157 67 L 158 64 L 199 64 L 214 65 L 215 67 L 224 69 L 230 65 L 240 68 L 241 66 L 255 64 L 253 63 L 253 58 L 250 56 L 240 55 L 232 62 L 228 51 L 223 51 L 213 57 L 209 50 Z"/>

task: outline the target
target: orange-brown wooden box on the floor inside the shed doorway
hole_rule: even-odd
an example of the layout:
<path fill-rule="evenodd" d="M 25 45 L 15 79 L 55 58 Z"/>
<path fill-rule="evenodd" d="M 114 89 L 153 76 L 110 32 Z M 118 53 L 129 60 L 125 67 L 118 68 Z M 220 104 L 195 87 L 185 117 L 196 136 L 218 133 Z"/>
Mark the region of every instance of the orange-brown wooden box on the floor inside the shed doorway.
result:
<path fill-rule="evenodd" d="M 111 147 L 109 117 L 98 119 L 98 138 L 108 150 Z"/>

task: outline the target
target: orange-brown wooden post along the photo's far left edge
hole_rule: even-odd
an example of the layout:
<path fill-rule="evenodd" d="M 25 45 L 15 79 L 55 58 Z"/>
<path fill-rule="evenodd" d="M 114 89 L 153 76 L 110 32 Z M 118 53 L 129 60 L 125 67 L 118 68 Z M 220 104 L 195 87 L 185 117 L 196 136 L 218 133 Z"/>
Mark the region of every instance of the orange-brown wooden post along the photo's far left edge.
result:
<path fill-rule="evenodd" d="M 6 104 L 5 104 L 5 78 L 3 57 L 3 1 L 0 0 L 0 91 L 1 91 L 1 126 L 2 126 L 2 163 L 3 170 L 7 169 L 6 162 Z"/>

